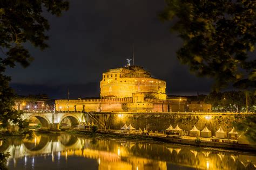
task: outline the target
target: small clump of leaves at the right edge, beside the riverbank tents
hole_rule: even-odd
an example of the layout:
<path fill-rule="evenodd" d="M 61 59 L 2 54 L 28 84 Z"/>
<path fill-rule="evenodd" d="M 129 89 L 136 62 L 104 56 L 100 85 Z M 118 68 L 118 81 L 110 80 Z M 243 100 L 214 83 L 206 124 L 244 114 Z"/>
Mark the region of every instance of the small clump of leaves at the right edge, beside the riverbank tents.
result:
<path fill-rule="evenodd" d="M 256 141 L 256 115 L 246 116 L 245 120 L 239 123 L 234 123 L 234 126 L 239 131 L 246 131 L 245 136 L 255 143 Z"/>

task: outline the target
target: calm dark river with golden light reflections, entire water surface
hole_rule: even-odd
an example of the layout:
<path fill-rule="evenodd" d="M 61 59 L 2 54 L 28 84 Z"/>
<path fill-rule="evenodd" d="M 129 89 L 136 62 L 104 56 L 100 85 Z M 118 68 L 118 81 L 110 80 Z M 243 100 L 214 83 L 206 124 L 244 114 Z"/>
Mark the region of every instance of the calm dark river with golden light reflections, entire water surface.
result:
<path fill-rule="evenodd" d="M 9 137 L 9 169 L 255 169 L 256 153 L 73 134 Z"/>

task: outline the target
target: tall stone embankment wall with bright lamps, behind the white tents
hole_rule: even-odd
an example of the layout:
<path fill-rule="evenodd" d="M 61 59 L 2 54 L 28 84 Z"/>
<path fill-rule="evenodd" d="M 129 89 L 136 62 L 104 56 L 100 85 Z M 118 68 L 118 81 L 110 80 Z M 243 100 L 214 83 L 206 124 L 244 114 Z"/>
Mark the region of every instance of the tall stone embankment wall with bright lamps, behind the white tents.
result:
<path fill-rule="evenodd" d="M 163 131 L 167 129 L 170 124 L 173 128 L 178 124 L 183 130 L 189 131 L 194 125 L 199 130 L 203 130 L 205 125 L 212 134 L 215 135 L 215 131 L 219 129 L 220 126 L 227 132 L 233 128 L 233 123 L 240 122 L 246 116 L 250 114 L 237 114 L 237 113 L 162 113 L 162 114 L 128 114 L 125 112 L 120 112 L 119 114 L 96 114 L 97 117 L 102 122 L 106 122 L 107 127 L 110 126 L 111 129 L 120 130 L 122 126 L 126 123 L 130 123 L 137 130 L 146 129 L 153 131 Z"/>

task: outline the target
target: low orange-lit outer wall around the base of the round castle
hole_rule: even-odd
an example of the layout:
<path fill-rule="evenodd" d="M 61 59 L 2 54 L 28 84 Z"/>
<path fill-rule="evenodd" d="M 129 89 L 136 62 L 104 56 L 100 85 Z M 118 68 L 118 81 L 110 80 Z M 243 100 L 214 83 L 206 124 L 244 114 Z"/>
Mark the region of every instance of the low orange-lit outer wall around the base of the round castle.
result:
<path fill-rule="evenodd" d="M 96 112 L 171 112 L 185 111 L 186 99 L 160 100 L 143 98 L 136 102 L 136 98 L 102 98 L 88 100 L 56 100 L 57 111 L 96 111 Z"/>

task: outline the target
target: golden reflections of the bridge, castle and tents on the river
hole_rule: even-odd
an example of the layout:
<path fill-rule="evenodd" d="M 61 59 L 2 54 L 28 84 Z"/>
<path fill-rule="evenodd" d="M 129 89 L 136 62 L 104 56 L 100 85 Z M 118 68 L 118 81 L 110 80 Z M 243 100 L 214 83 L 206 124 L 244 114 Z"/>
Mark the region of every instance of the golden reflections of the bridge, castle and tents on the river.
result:
<path fill-rule="evenodd" d="M 9 142 L 9 144 L 7 144 Z M 191 146 L 131 141 L 92 140 L 61 134 L 40 134 L 32 140 L 7 140 L 0 151 L 10 152 L 9 161 L 35 156 L 84 157 L 98 161 L 98 169 L 167 169 L 168 164 L 204 169 L 255 169 L 256 156 L 203 150 Z"/>

